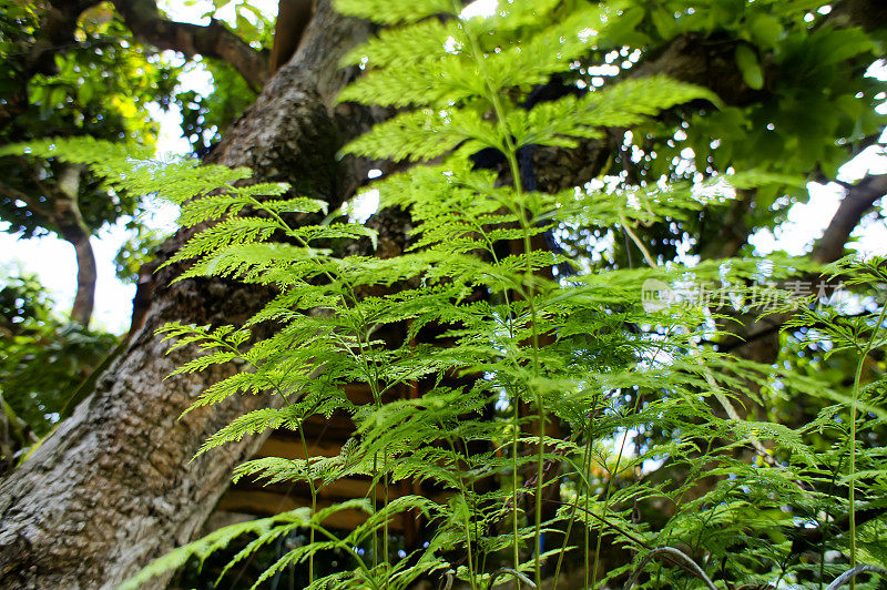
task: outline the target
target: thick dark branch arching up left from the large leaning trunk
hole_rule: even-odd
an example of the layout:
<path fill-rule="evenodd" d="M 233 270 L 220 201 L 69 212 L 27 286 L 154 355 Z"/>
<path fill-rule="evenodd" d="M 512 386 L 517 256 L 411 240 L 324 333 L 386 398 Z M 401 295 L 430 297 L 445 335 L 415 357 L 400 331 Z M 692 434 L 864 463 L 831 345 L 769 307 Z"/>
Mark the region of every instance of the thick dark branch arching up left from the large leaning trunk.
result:
<path fill-rule="evenodd" d="M 200 53 L 224 60 L 256 91 L 268 79 L 268 65 L 262 54 L 218 21 L 206 27 L 170 21 L 161 16 L 154 0 L 114 0 L 114 7 L 140 41 L 181 51 L 188 58 Z"/>

